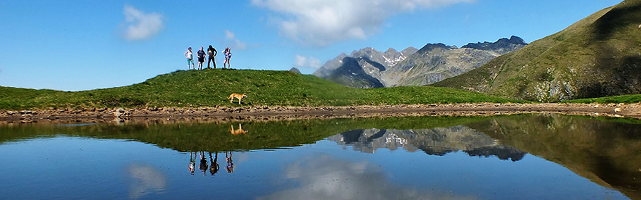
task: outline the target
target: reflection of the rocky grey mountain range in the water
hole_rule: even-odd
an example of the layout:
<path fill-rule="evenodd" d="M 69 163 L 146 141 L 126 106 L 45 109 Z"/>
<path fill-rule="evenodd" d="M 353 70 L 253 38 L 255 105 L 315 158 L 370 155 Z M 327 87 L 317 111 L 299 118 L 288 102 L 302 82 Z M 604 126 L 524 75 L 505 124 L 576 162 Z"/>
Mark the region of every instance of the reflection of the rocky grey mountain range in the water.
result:
<path fill-rule="evenodd" d="M 392 151 L 402 148 L 407 152 L 420 149 L 430 155 L 442 156 L 461 150 L 470 156 L 496 156 L 512 161 L 523 159 L 527 154 L 463 125 L 422 130 L 350 130 L 328 137 L 328 140 L 366 153 L 374 153 L 380 148 Z"/>

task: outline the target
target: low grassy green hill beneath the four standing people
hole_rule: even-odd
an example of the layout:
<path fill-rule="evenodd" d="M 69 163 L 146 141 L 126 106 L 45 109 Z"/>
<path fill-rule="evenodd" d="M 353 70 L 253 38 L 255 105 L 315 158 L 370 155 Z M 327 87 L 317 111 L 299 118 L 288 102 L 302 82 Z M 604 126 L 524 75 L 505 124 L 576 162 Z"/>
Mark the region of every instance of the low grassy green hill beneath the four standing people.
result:
<path fill-rule="evenodd" d="M 244 104 L 229 103 L 246 93 Z M 0 109 L 46 107 L 201 107 L 246 105 L 400 105 L 514 102 L 481 93 L 434 87 L 356 89 L 313 75 L 273 70 L 178 70 L 120 88 L 62 92 L 0 87 Z"/>

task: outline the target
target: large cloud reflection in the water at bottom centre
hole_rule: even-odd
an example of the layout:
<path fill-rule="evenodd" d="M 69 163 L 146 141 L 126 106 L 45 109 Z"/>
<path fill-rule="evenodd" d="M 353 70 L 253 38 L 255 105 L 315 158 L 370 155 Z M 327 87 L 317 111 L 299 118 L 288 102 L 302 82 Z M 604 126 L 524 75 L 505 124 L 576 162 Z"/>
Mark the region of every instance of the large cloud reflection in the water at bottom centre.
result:
<path fill-rule="evenodd" d="M 328 155 L 310 156 L 288 164 L 285 179 L 296 180 L 294 189 L 258 199 L 476 199 L 432 189 L 407 189 L 385 178 L 368 162 L 350 162 Z"/>

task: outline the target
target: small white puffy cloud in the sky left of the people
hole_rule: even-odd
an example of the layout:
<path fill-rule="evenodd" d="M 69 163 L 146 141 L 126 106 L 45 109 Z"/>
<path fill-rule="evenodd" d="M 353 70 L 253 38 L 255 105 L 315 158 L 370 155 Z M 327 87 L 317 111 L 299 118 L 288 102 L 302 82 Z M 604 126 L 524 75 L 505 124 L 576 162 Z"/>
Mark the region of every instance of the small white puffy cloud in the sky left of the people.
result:
<path fill-rule="evenodd" d="M 164 27 L 163 16 L 157 13 L 145 14 L 132 6 L 125 5 L 125 39 L 140 41 L 154 36 Z"/>

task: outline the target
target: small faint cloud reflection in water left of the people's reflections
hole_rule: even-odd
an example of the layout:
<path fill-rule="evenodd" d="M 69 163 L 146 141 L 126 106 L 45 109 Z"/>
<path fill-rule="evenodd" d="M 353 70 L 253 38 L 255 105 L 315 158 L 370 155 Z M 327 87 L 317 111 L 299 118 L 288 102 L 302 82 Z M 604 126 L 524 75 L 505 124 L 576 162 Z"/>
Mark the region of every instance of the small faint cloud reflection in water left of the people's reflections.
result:
<path fill-rule="evenodd" d="M 150 193 L 162 193 L 167 187 L 167 177 L 151 166 L 132 164 L 127 167 L 130 177 L 129 198 L 139 199 Z"/>

